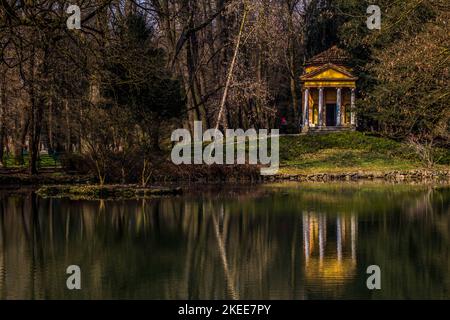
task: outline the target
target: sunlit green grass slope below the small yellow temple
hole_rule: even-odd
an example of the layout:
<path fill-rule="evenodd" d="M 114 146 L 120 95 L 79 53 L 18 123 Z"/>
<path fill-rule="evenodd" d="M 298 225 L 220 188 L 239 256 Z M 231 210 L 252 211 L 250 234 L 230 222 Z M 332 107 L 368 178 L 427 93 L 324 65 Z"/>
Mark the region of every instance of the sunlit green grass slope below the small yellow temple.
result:
<path fill-rule="evenodd" d="M 423 167 L 407 145 L 360 132 L 281 137 L 280 162 L 280 172 L 284 174 Z M 439 167 L 448 169 L 448 164 Z"/>

